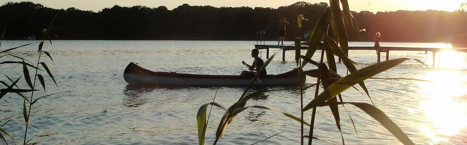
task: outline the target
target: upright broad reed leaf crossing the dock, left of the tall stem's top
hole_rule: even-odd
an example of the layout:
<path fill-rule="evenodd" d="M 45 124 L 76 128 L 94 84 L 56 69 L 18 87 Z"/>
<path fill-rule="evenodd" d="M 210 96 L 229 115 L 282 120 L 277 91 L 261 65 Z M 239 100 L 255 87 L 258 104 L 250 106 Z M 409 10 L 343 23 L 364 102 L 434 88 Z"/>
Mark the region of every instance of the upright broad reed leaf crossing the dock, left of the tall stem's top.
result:
<path fill-rule="evenodd" d="M 308 45 L 308 48 L 306 50 L 306 53 L 305 53 L 305 56 L 307 58 L 312 58 L 313 57 L 313 54 L 316 52 L 316 50 L 318 49 L 318 45 L 317 43 L 321 43 L 321 40 L 323 39 L 323 34 L 325 33 L 325 27 L 327 26 L 327 21 L 328 21 L 328 18 L 329 18 L 329 9 L 327 9 L 325 11 L 325 13 L 323 13 L 323 15 L 321 15 L 321 18 L 319 18 L 318 22 L 316 23 L 314 29 L 313 29 L 313 32 L 311 33 L 311 36 L 310 36 L 310 44 Z M 302 68 L 306 65 L 306 63 L 308 63 L 307 60 L 304 60 L 302 62 Z"/>

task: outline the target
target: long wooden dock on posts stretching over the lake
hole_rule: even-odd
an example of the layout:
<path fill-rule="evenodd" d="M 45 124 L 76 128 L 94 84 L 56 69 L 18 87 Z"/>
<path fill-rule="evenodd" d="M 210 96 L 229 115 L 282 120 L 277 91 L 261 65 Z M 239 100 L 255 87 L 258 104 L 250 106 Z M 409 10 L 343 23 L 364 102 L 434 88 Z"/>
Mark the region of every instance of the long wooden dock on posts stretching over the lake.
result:
<path fill-rule="evenodd" d="M 302 45 L 301 49 L 306 50 L 308 45 Z M 282 61 L 285 61 L 285 51 L 295 50 L 295 45 L 255 45 L 257 49 L 266 49 L 266 58 L 269 58 L 269 48 L 283 48 L 282 50 Z M 322 50 L 318 47 L 318 50 Z M 433 66 L 435 62 L 435 54 L 442 50 L 453 50 L 457 52 L 467 53 L 467 48 L 418 48 L 418 47 L 374 47 L 374 46 L 349 46 L 349 50 L 375 50 L 377 53 L 377 62 L 381 61 L 380 53 L 386 53 L 386 60 L 389 59 L 389 51 L 430 51 L 433 52 Z M 297 59 L 297 58 L 296 58 Z"/>

